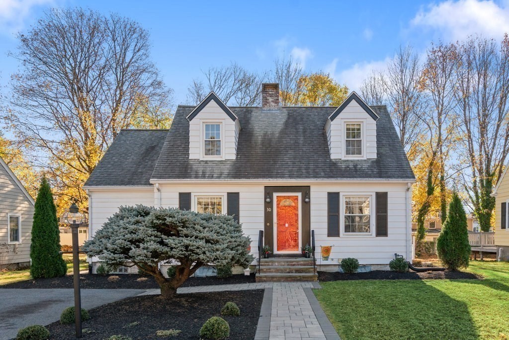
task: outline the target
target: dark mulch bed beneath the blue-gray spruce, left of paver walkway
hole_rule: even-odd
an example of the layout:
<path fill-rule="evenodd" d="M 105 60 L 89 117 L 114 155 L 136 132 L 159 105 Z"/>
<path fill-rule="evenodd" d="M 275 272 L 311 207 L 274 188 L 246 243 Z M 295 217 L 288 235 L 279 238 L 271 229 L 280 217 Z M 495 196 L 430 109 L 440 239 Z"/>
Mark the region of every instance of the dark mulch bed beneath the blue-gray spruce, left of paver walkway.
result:
<path fill-rule="evenodd" d="M 263 290 L 182 294 L 170 299 L 160 296 L 138 296 L 90 310 L 91 319 L 83 321 L 83 339 L 100 340 L 111 335 L 133 339 L 158 339 L 158 330 L 179 329 L 176 339 L 199 339 L 200 328 L 213 316 L 220 316 L 228 301 L 240 308 L 240 317 L 221 316 L 230 324 L 229 339 L 253 339 L 260 317 Z M 74 324 L 55 322 L 47 326 L 50 339 L 74 338 Z M 174 338 L 174 337 L 171 337 Z"/>

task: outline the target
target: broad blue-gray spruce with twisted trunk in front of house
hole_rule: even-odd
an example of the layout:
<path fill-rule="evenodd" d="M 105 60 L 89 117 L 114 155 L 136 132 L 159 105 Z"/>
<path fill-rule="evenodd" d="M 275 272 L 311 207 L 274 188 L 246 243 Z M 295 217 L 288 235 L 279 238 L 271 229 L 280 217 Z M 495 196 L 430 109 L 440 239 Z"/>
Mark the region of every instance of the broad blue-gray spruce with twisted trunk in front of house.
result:
<path fill-rule="evenodd" d="M 120 207 L 83 248 L 110 268 L 136 266 L 152 275 L 161 296 L 170 297 L 207 264 L 247 268 L 253 260 L 250 243 L 231 216 L 136 205 Z M 178 263 L 171 278 L 159 269 L 167 260 Z"/>

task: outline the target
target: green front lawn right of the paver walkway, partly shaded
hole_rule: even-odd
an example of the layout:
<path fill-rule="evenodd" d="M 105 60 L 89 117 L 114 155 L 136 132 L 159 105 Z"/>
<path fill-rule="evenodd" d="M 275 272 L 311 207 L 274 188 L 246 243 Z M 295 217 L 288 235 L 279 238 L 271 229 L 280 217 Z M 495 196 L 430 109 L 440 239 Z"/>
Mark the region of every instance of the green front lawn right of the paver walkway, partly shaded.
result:
<path fill-rule="evenodd" d="M 485 279 L 323 282 L 315 294 L 343 340 L 507 340 L 509 263 L 468 271 Z"/>

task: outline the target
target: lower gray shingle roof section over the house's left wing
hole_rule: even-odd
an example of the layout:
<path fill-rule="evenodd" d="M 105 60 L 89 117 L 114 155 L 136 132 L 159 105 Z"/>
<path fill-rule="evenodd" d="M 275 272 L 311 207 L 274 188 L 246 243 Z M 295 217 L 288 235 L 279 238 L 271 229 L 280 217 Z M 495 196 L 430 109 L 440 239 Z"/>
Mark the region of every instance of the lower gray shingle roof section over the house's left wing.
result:
<path fill-rule="evenodd" d="M 85 186 L 148 186 L 168 130 L 125 129 L 118 134 Z"/>

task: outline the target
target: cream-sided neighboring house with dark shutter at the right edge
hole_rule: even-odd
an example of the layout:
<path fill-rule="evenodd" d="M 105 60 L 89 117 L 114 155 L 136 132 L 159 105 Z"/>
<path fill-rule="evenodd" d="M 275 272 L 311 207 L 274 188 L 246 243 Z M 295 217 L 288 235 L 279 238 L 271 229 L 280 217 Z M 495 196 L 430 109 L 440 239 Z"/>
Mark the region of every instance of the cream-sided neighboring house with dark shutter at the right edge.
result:
<path fill-rule="evenodd" d="M 498 260 L 509 261 L 509 166 L 498 179 L 495 196 L 495 246 Z"/>

